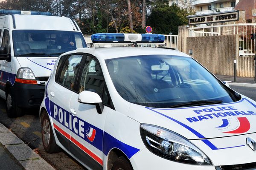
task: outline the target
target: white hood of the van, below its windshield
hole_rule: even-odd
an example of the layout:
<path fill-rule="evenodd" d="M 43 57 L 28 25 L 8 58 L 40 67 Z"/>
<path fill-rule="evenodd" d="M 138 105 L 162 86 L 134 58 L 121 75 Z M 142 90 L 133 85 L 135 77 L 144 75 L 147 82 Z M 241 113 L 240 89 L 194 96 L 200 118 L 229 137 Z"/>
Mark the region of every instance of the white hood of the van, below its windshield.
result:
<path fill-rule="evenodd" d="M 35 77 L 48 77 L 58 57 L 17 57 L 21 67 L 32 69 Z"/>

